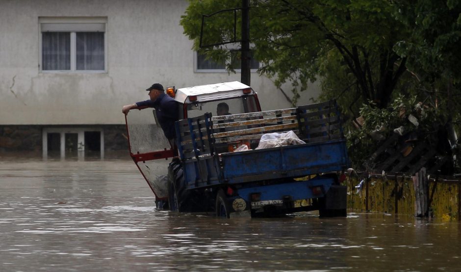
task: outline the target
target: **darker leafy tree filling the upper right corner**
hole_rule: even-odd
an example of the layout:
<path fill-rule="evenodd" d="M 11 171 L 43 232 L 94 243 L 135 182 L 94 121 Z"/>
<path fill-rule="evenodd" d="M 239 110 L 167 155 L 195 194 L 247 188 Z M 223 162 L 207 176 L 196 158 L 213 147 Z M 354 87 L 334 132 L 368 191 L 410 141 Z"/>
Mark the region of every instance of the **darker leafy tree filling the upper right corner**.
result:
<path fill-rule="evenodd" d="M 461 105 L 461 2 L 402 1 L 397 7 L 397 19 L 412 31 L 395 50 L 409 59 L 407 67 L 416 79 L 414 92 L 424 92 L 444 108 L 448 118 L 459 120 L 460 112 L 454 109 Z"/>

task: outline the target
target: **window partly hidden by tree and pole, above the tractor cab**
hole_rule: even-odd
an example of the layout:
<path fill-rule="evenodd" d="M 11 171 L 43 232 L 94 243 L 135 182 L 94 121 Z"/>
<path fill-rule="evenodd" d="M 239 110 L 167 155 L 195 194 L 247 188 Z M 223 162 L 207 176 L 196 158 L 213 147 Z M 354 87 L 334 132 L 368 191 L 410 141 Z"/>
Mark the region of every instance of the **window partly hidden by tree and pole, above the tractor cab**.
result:
<path fill-rule="evenodd" d="M 252 72 L 256 72 L 259 68 L 259 62 L 253 58 L 253 53 L 250 53 L 250 69 Z M 204 54 L 196 52 L 196 63 L 197 63 L 197 72 L 226 72 L 226 63 L 217 63 L 215 61 L 206 59 Z M 227 63 L 232 64 L 235 67 L 236 72 L 240 72 L 241 59 L 239 50 L 230 50 L 230 59 L 227 60 Z"/>

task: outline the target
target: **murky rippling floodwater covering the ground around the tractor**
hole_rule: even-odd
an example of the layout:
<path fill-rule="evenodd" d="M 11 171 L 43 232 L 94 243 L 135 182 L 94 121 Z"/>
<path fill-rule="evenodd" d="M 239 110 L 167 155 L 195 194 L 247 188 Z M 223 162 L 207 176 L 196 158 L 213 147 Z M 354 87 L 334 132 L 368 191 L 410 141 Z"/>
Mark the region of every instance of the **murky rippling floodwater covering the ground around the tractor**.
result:
<path fill-rule="evenodd" d="M 461 271 L 460 240 L 436 219 L 159 211 L 129 158 L 0 160 L 2 272 Z"/>

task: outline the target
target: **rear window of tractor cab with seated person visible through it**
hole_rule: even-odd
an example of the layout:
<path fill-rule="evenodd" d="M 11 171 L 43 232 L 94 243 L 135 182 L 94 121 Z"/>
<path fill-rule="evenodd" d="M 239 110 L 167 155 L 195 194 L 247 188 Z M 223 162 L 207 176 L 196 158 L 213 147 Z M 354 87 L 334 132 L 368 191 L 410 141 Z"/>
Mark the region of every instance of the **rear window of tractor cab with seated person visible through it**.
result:
<path fill-rule="evenodd" d="M 253 96 L 198 102 L 188 106 L 187 117 L 197 117 L 210 112 L 213 116 L 239 114 L 258 111 Z"/>

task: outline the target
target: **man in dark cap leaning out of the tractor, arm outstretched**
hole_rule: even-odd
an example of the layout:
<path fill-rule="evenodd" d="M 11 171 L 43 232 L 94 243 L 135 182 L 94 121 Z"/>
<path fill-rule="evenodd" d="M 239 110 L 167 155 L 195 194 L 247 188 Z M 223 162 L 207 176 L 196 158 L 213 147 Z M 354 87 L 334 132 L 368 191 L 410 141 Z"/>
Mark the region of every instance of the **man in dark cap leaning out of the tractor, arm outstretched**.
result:
<path fill-rule="evenodd" d="M 178 103 L 175 99 L 165 94 L 163 86 L 159 83 L 153 84 L 146 91 L 149 92 L 149 100 L 125 105 L 122 112 L 128 114 L 132 109 L 154 108 L 163 134 L 170 142 L 171 147 L 174 148 L 176 138 L 175 122 L 178 121 Z"/>

